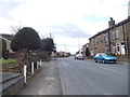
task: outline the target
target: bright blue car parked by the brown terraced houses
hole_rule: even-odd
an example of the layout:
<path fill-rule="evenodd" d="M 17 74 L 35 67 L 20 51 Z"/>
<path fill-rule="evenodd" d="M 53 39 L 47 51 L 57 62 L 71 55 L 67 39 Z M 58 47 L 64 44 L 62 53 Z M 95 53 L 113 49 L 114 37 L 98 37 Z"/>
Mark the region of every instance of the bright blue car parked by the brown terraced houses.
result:
<path fill-rule="evenodd" d="M 105 53 L 98 53 L 94 56 L 94 60 L 95 60 L 95 63 L 103 63 L 103 64 L 105 64 L 105 63 L 114 63 L 114 64 L 116 64 L 117 58 L 113 57 L 113 56 L 108 56 Z"/>

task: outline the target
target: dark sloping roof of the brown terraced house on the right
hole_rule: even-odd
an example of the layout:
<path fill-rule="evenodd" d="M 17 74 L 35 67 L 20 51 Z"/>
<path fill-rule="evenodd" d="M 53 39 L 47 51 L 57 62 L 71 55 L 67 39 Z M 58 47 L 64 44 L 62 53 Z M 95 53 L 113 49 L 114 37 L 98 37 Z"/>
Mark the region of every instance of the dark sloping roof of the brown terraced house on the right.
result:
<path fill-rule="evenodd" d="M 122 22 L 120 22 L 120 23 L 118 23 L 118 24 L 116 24 L 116 25 L 114 25 L 114 26 L 112 26 L 112 27 L 109 27 L 109 28 L 101 31 L 101 32 L 98 32 L 96 34 L 94 34 L 93 37 L 91 37 L 89 40 L 91 40 L 92 38 L 95 38 L 95 37 L 102 34 L 102 33 L 105 33 L 105 32 L 107 32 L 107 31 L 109 31 L 109 30 L 112 30 L 112 29 L 114 29 L 116 27 L 119 27 L 120 25 L 123 25 L 123 24 L 126 24 L 128 22 L 130 22 L 130 17 L 128 17 L 127 19 L 125 19 L 125 20 L 122 20 Z"/>

